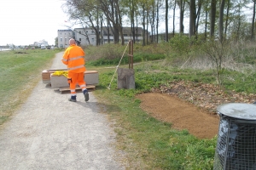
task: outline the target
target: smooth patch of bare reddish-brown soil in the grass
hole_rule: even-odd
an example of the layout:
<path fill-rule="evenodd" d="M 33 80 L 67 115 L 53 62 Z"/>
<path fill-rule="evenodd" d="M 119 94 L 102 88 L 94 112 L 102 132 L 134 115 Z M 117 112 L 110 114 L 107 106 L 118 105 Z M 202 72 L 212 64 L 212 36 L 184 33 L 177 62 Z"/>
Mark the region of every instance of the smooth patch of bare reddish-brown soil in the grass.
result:
<path fill-rule="evenodd" d="M 168 94 L 149 93 L 137 95 L 141 107 L 163 122 L 171 122 L 173 128 L 187 129 L 200 139 L 211 139 L 218 134 L 218 116 L 211 116 L 192 104 Z"/>

